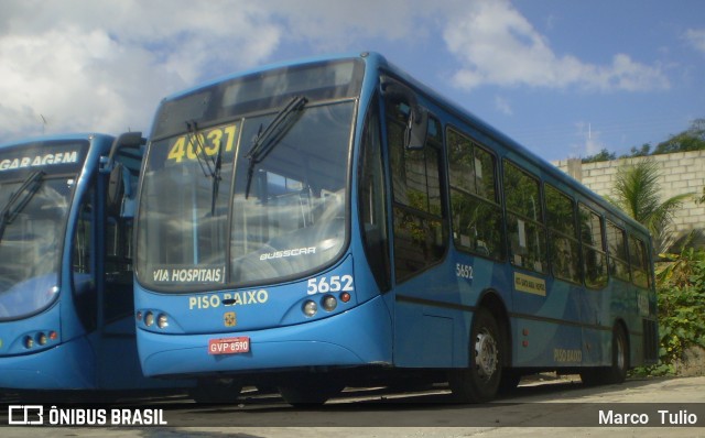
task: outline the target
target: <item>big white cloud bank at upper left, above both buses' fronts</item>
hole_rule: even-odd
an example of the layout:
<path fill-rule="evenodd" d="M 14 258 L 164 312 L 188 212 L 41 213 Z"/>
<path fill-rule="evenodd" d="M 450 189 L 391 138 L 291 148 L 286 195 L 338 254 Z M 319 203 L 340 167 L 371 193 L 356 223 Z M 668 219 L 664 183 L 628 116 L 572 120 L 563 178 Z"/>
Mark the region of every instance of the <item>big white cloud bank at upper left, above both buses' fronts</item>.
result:
<path fill-rule="evenodd" d="M 145 130 L 163 96 L 263 64 L 286 44 L 299 53 L 413 44 L 434 17 L 421 4 L 9 0 L 0 15 L 0 139 L 40 133 L 42 118 L 47 133 Z"/>

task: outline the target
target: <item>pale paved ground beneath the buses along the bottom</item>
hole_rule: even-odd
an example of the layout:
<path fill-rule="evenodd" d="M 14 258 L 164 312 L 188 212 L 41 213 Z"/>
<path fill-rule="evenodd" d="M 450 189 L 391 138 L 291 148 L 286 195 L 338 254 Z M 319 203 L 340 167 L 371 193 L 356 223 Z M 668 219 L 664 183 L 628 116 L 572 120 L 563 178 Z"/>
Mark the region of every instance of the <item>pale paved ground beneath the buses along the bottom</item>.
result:
<path fill-rule="evenodd" d="M 45 417 L 50 407 L 45 407 Z M 132 415 L 132 420 L 135 409 L 142 420 L 156 414 L 158 419 L 169 425 L 51 429 L 0 426 L 0 435 L 3 438 L 705 437 L 705 377 L 630 380 L 622 385 L 600 387 L 585 387 L 579 381 L 533 381 L 522 383 L 516 392 L 495 403 L 474 406 L 453 404 L 443 387 L 408 394 L 346 391 L 343 397 L 315 409 L 296 409 L 278 396 L 256 393 L 237 405 L 210 406 L 173 396 L 112 406 L 106 413 L 107 425 L 116 409 L 120 415 Z M 7 413 L 0 413 L 0 421 L 7 425 Z M 666 425 L 661 426 L 662 423 Z"/>

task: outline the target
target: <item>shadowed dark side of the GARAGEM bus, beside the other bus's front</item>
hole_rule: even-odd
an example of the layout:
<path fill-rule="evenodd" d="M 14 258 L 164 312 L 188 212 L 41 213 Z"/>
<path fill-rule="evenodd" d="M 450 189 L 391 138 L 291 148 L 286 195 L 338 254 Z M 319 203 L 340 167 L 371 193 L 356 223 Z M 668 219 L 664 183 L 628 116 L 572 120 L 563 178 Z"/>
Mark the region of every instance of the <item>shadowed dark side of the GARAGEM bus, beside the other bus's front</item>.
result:
<path fill-rule="evenodd" d="M 142 376 L 133 319 L 132 226 L 143 139 L 130 133 L 116 140 L 99 175 L 96 223 L 98 387 L 138 388 Z"/>

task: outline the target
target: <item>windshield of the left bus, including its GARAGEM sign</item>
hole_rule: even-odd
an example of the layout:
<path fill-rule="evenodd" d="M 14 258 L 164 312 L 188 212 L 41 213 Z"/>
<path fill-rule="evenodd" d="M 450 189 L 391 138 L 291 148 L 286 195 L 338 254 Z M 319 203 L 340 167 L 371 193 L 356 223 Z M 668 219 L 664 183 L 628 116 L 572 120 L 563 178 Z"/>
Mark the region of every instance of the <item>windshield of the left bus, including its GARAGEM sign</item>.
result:
<path fill-rule="evenodd" d="M 0 319 L 39 311 L 58 294 L 66 218 L 86 145 L 0 151 Z"/>

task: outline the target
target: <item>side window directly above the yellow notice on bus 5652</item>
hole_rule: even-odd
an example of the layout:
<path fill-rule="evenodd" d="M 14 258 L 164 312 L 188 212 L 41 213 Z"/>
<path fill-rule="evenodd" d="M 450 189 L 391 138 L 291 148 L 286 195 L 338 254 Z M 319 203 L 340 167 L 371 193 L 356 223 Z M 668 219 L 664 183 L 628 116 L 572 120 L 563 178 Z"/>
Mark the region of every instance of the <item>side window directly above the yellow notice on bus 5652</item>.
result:
<path fill-rule="evenodd" d="M 505 161 L 503 183 L 511 262 L 545 274 L 546 234 L 539 180 Z"/>

